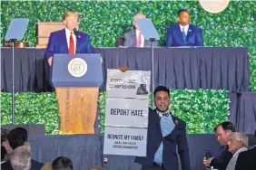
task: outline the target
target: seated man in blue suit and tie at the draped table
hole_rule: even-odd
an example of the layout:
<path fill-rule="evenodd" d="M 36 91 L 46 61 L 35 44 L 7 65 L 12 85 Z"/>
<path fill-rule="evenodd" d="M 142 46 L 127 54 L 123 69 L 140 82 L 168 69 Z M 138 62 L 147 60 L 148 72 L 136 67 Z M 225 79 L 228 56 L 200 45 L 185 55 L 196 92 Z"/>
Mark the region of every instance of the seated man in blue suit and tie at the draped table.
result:
<path fill-rule="evenodd" d="M 190 24 L 189 11 L 179 11 L 177 20 L 179 24 L 173 25 L 167 31 L 166 46 L 203 46 L 202 30 Z"/>

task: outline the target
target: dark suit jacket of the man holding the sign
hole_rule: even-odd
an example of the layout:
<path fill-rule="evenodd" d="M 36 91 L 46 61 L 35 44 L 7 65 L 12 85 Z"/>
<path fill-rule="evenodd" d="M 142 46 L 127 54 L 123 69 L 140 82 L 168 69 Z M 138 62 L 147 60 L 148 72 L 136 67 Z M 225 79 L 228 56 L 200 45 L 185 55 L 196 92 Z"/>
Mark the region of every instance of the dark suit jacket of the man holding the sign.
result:
<path fill-rule="evenodd" d="M 174 123 L 178 124 L 173 128 L 171 134 L 162 137 L 160 117 L 156 110 L 149 109 L 149 123 L 147 134 L 147 156 L 136 156 L 135 163 L 140 165 L 153 166 L 153 158 L 158 147 L 163 145 L 162 164 L 166 170 L 178 170 L 178 157 L 176 154 L 176 146 L 178 145 L 178 153 L 182 161 L 182 170 L 190 170 L 189 147 L 186 137 L 186 123 L 179 118 L 172 116 Z"/>

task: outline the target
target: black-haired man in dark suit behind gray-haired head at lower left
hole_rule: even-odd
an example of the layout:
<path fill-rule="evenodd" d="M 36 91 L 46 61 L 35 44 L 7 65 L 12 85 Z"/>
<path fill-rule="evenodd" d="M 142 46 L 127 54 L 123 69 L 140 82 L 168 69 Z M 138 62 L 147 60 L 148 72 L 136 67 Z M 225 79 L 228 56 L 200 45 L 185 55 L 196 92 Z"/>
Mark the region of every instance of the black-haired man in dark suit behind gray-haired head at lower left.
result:
<path fill-rule="evenodd" d="M 16 127 L 12 129 L 8 134 L 8 141 L 13 150 L 15 150 L 15 148 L 17 148 L 18 146 L 30 147 L 27 141 L 27 131 L 23 127 Z M 31 160 L 31 165 L 32 165 L 31 170 L 38 170 L 38 169 L 41 169 L 41 167 L 43 166 L 42 163 L 39 163 L 33 159 Z M 2 170 L 13 169 L 10 160 L 1 164 L 1 169 Z"/>

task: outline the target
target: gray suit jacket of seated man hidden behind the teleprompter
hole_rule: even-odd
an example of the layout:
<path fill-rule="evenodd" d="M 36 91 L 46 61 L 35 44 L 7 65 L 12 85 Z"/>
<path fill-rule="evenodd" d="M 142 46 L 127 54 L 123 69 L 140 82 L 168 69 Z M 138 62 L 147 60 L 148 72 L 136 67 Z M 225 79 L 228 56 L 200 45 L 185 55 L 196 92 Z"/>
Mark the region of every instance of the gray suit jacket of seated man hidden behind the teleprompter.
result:
<path fill-rule="evenodd" d="M 123 34 L 123 46 L 127 47 L 136 47 L 137 46 L 137 40 L 136 40 L 136 31 L 135 29 L 131 29 L 129 32 Z M 154 46 L 157 46 L 156 42 L 154 43 Z M 144 47 L 150 47 L 151 42 L 149 40 L 144 41 Z"/>

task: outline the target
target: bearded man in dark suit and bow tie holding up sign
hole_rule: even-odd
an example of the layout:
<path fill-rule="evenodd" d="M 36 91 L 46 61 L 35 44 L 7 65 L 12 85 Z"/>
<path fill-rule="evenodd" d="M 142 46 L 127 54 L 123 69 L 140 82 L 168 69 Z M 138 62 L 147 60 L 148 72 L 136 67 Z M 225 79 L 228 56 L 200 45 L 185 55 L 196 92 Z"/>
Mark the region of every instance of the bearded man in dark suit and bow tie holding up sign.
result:
<path fill-rule="evenodd" d="M 142 170 L 178 170 L 177 144 L 182 170 L 190 170 L 186 123 L 168 111 L 170 91 L 166 87 L 157 87 L 153 94 L 156 109 L 149 110 L 147 156 L 136 156 L 135 162 Z"/>

